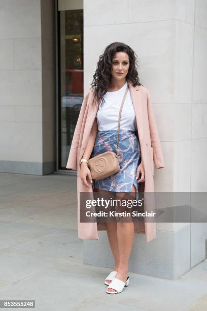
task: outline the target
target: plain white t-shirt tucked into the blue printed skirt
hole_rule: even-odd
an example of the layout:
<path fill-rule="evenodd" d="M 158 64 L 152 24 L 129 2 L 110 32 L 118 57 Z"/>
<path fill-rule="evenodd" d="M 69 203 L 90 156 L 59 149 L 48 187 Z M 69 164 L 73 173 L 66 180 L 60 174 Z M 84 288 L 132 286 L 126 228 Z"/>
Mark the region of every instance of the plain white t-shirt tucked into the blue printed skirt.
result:
<path fill-rule="evenodd" d="M 119 110 L 121 107 L 127 82 L 118 90 L 106 92 L 105 102 L 98 108 L 96 117 L 98 123 L 98 131 L 109 131 L 118 129 Z M 127 95 L 121 111 L 120 131 L 131 130 L 136 131 L 136 117 L 134 113 L 133 103 L 128 89 Z"/>

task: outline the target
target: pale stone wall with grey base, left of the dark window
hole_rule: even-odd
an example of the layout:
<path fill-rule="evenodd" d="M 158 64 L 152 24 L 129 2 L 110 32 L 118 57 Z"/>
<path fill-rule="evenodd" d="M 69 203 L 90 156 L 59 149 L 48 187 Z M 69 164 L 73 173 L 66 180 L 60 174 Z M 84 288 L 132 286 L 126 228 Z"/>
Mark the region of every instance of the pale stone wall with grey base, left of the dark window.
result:
<path fill-rule="evenodd" d="M 0 171 L 48 174 L 55 159 L 54 2 L 0 4 Z"/>

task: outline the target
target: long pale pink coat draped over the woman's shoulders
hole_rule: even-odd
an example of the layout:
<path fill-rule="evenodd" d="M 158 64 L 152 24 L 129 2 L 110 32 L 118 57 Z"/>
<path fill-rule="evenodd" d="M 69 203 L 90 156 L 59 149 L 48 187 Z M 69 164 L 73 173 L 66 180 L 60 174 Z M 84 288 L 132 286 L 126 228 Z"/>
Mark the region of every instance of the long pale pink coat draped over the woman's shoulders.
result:
<path fill-rule="evenodd" d="M 145 182 L 139 184 L 139 191 L 154 193 L 154 163 L 155 168 L 163 168 L 164 160 L 157 126 L 150 103 L 149 92 L 146 87 L 133 86 L 127 80 L 131 99 L 134 106 L 137 130 L 139 133 L 141 157 L 145 170 Z M 76 129 L 71 144 L 66 168 L 77 170 L 77 195 L 78 195 L 78 236 L 82 239 L 99 239 L 98 230 L 106 230 L 105 223 L 80 223 L 80 192 L 90 192 L 93 194 L 92 185 L 87 188 L 82 184 L 80 178 L 80 159 L 84 153 L 88 137 L 98 110 L 97 103 L 93 102 L 93 92 L 90 89 L 84 97 Z M 154 163 L 153 163 L 154 162 Z M 154 210 L 152 202 L 145 201 L 145 210 Z M 146 242 L 156 238 L 155 222 L 134 223 L 134 232 L 146 235 Z"/>

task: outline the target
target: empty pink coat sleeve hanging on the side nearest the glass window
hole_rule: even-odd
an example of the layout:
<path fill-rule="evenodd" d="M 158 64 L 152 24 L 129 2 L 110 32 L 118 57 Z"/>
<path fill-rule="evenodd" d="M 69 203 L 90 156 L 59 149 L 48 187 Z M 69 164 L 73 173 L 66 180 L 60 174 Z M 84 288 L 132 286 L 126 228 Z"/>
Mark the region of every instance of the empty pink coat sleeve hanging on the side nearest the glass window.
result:
<path fill-rule="evenodd" d="M 83 98 L 81 110 L 79 113 L 78 121 L 76 123 L 76 128 L 75 128 L 72 143 L 71 143 L 70 153 L 67 159 L 66 168 L 72 169 L 72 170 L 77 170 L 77 148 L 79 145 L 81 127 L 82 127 L 83 117 L 84 117 L 87 102 L 88 102 L 89 93 L 90 93 L 90 90 L 87 92 L 86 96 Z"/>

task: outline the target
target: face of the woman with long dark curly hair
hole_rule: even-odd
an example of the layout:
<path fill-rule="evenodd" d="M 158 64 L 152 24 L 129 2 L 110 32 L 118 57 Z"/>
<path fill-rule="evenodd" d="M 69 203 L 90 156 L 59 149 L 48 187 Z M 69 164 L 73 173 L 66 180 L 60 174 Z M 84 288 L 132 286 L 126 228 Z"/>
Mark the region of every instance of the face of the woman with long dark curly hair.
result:
<path fill-rule="evenodd" d="M 112 59 L 111 74 L 113 79 L 122 80 L 126 79 L 129 70 L 129 56 L 125 52 L 117 52 Z"/>

